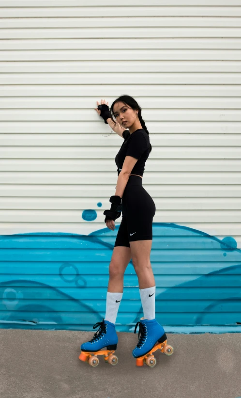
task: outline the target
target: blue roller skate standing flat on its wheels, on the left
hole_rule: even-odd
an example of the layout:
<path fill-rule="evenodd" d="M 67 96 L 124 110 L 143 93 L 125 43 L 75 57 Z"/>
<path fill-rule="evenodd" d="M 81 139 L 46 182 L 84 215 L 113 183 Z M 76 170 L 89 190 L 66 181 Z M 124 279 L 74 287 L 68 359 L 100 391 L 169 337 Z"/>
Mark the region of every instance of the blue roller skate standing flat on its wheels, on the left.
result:
<path fill-rule="evenodd" d="M 88 362 L 90 366 L 99 365 L 99 359 L 97 355 L 104 355 L 105 363 L 110 365 L 116 365 L 118 363 L 118 357 L 114 355 L 117 349 L 118 335 L 114 323 L 105 320 L 97 322 L 93 329 L 99 329 L 94 334 L 93 338 L 87 343 L 83 343 L 80 347 L 81 353 L 79 359 L 83 362 Z M 106 347 L 106 350 L 102 350 Z"/>

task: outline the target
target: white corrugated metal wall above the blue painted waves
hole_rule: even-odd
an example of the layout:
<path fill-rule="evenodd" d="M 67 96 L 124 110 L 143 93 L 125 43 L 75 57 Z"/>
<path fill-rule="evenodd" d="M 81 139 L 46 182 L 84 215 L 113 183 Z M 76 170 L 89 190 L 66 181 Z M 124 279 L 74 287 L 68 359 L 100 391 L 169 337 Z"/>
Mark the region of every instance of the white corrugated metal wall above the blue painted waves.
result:
<path fill-rule="evenodd" d="M 150 132 L 153 223 L 241 247 L 240 1 L 0 0 L 0 16 L 1 236 L 105 228 L 122 139 L 94 108 L 128 94 Z"/>

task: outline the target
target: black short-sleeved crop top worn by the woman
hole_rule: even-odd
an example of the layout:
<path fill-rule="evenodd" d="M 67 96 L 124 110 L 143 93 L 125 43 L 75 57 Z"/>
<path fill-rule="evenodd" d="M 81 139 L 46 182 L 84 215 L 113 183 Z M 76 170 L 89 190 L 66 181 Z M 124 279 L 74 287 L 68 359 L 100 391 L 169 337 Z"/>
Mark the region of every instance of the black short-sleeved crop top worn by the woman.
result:
<path fill-rule="evenodd" d="M 143 128 L 138 128 L 134 133 L 130 134 L 129 130 L 124 130 L 124 142 L 120 147 L 120 151 L 116 155 L 115 161 L 118 167 L 118 175 L 122 169 L 126 156 L 133 156 L 138 159 L 133 167 L 131 174 L 143 175 L 146 160 L 150 154 L 150 140 L 149 135 Z"/>

